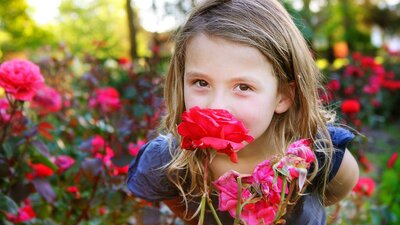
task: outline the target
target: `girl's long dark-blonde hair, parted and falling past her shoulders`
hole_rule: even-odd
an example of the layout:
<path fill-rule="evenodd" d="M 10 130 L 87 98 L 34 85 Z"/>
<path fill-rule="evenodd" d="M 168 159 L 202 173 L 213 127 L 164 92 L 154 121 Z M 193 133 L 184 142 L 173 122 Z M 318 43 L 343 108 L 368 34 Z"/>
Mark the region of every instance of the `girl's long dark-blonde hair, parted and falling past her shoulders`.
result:
<path fill-rule="evenodd" d="M 295 86 L 294 103 L 283 114 L 275 114 L 266 132 L 274 134 L 274 144 L 282 152 L 299 138 L 311 138 L 316 151 L 322 151 L 326 165 L 315 165 L 310 180 L 318 168 L 323 168 L 323 181 L 318 191 L 324 196 L 332 143 L 326 124 L 333 115 L 319 100 L 322 75 L 302 34 L 290 15 L 276 0 L 205 0 L 189 15 L 175 37 L 175 49 L 166 77 L 164 97 L 167 114 L 161 128 L 180 140 L 176 126 L 185 110 L 183 74 L 185 50 L 189 40 L 200 33 L 223 38 L 258 49 L 271 63 L 278 79 L 278 90 L 289 92 Z M 198 197 L 203 187 L 204 154 L 201 151 L 172 151 L 168 175 L 185 196 Z"/>

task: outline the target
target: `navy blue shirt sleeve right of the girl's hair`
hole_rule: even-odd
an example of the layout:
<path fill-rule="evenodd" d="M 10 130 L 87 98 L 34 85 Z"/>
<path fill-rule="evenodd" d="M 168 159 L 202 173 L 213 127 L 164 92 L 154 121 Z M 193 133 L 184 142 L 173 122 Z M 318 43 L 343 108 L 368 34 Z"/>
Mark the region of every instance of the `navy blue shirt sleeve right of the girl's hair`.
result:
<path fill-rule="evenodd" d="M 328 181 L 331 181 L 336 176 L 336 173 L 342 164 L 344 152 L 346 151 L 348 143 L 354 139 L 354 134 L 345 128 L 334 126 L 328 126 L 328 132 L 331 136 L 334 148 L 328 178 Z M 325 155 L 322 152 L 316 152 L 315 154 L 318 164 L 323 165 L 325 162 Z M 318 174 L 317 176 L 321 176 L 321 174 Z"/>

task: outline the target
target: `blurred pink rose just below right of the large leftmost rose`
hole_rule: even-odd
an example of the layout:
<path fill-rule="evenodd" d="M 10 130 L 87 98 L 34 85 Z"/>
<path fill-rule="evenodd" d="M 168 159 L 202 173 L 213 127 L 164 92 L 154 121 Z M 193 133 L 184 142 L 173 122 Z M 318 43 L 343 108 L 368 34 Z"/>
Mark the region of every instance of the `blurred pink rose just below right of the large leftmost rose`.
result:
<path fill-rule="evenodd" d="M 43 87 L 36 92 L 31 107 L 36 108 L 39 115 L 58 112 L 62 107 L 61 95 L 51 87 Z"/>

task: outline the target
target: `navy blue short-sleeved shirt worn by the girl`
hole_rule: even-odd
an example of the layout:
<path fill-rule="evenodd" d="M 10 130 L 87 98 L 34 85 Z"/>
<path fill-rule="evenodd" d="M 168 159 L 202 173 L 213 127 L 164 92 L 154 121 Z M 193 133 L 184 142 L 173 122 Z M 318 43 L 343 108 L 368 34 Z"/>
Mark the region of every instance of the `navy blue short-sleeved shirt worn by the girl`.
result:
<path fill-rule="evenodd" d="M 346 145 L 354 138 L 354 135 L 341 127 L 329 126 L 328 131 L 336 149 L 333 153 L 332 166 L 329 172 L 329 180 L 331 180 L 340 167 Z M 162 168 L 172 159 L 169 152 L 169 138 L 171 137 L 158 136 L 151 140 L 140 149 L 138 155 L 130 164 L 127 186 L 135 196 L 150 202 L 173 199 L 179 196 L 178 190 L 168 180 L 166 172 Z M 315 154 L 319 165 L 321 165 L 325 155 L 319 152 Z M 318 179 L 318 175 L 315 179 Z M 326 224 L 325 210 L 320 202 L 320 196 L 315 191 L 303 196 L 296 204 L 293 213 L 287 216 L 286 224 Z M 218 206 L 218 198 L 214 197 L 213 205 Z M 196 209 L 197 205 L 193 202 L 189 204 L 189 207 Z M 228 212 L 217 212 L 223 224 L 233 224 L 233 219 Z M 204 224 L 215 224 L 212 215 L 206 215 Z"/>

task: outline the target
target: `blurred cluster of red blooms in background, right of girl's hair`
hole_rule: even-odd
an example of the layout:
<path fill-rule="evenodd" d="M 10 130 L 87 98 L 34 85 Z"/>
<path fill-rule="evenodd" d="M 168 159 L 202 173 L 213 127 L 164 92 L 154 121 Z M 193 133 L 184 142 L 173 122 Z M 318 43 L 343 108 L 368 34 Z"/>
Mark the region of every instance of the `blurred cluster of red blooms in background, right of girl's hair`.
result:
<path fill-rule="evenodd" d="M 361 129 L 363 122 L 373 125 L 374 115 L 384 104 L 383 92 L 399 90 L 399 82 L 375 58 L 354 53 L 338 71 L 329 71 L 331 80 L 321 96 L 325 103 L 339 103 L 343 123 Z"/>

